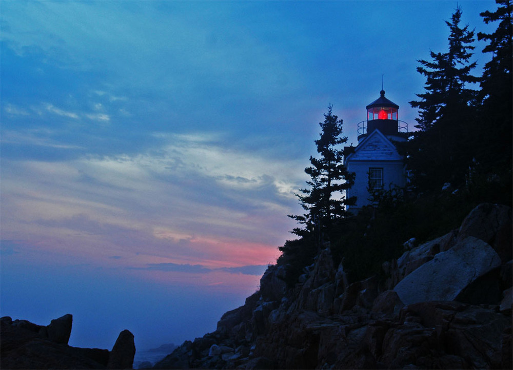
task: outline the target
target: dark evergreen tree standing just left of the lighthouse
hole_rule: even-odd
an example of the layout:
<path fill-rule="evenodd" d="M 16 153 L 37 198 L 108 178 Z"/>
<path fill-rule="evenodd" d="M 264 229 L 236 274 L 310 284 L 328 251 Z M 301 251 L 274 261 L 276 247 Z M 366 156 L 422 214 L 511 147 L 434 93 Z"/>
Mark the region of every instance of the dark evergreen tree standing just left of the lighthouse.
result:
<path fill-rule="evenodd" d="M 320 138 L 315 140 L 320 158 L 310 156 L 311 166 L 305 169 L 311 180 L 309 188 L 300 189 L 296 194 L 306 211 L 303 215 L 289 215 L 303 227 L 295 228 L 292 233 L 305 237 L 315 234 L 329 237 L 333 225 L 346 216 L 345 206 L 354 204 L 356 199 L 346 199 L 342 192 L 354 183 L 354 174 L 347 172 L 343 164 L 343 150 L 338 147 L 347 141 L 342 137 L 342 119 L 332 114 L 332 106 L 324 114 Z"/>

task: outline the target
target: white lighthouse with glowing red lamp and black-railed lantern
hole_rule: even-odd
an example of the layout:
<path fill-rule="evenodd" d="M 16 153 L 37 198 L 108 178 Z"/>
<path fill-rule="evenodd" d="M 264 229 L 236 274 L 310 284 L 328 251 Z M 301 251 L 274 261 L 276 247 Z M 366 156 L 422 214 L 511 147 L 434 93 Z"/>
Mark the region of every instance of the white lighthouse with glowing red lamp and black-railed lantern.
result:
<path fill-rule="evenodd" d="M 356 175 L 353 186 L 346 196 L 357 197 L 352 213 L 370 203 L 369 189 L 388 190 L 406 186 L 404 158 L 396 143 L 406 141 L 404 133 L 408 124 L 399 120 L 399 106 L 385 97 L 380 97 L 367 107 L 367 119 L 358 124 L 358 146 L 344 148 L 344 165 Z"/>

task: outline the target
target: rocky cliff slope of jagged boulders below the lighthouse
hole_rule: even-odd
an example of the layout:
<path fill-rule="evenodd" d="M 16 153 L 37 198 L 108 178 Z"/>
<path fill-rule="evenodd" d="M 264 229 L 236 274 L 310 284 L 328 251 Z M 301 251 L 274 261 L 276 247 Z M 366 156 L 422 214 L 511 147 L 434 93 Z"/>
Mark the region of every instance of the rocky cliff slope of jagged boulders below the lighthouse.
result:
<path fill-rule="evenodd" d="M 511 225 L 509 207 L 480 204 L 352 283 L 329 246 L 292 288 L 270 266 L 215 332 L 154 368 L 512 368 Z"/>

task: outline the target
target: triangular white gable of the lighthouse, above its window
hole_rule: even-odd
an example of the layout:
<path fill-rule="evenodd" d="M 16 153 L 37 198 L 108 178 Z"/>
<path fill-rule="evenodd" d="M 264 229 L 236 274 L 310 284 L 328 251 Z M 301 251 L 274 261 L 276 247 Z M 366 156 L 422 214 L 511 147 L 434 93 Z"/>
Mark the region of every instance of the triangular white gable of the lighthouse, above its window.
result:
<path fill-rule="evenodd" d="M 354 153 L 349 154 L 344 162 L 352 160 L 402 160 L 403 157 L 380 130 L 372 131 L 358 146 Z"/>

